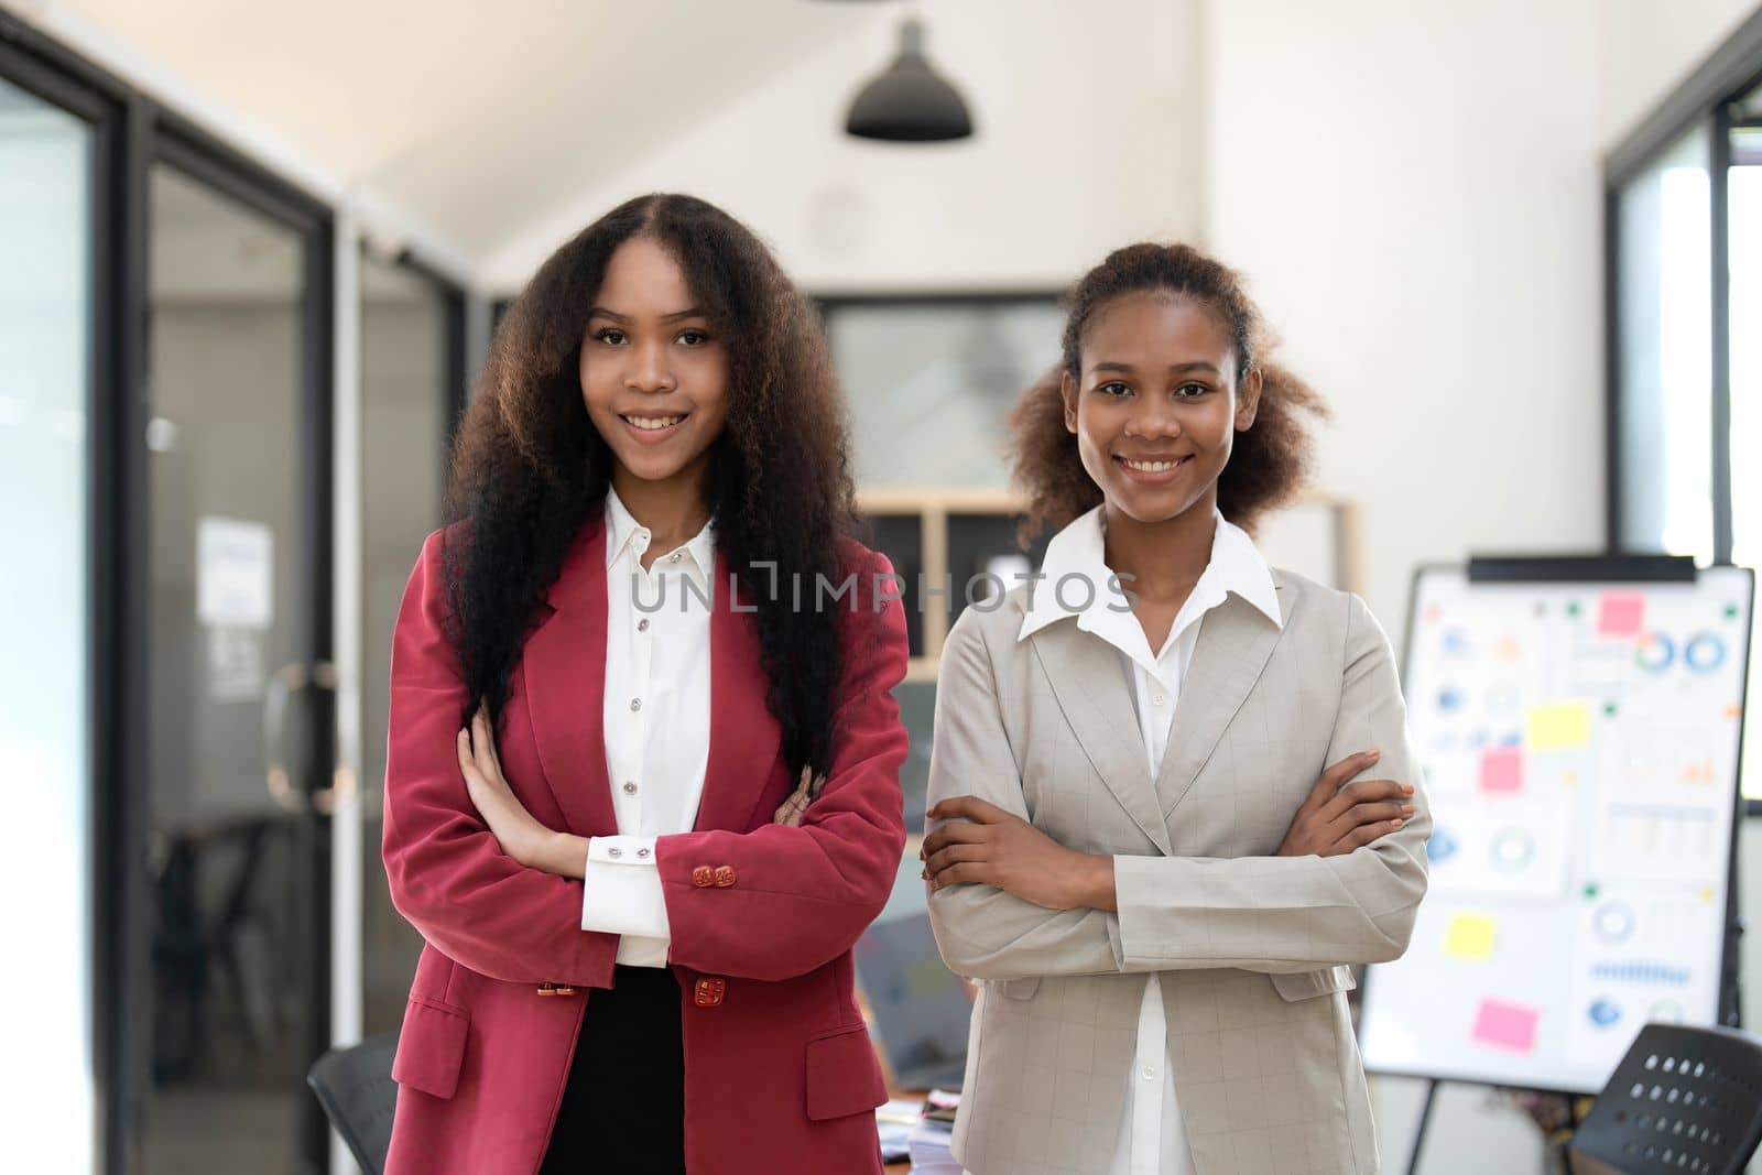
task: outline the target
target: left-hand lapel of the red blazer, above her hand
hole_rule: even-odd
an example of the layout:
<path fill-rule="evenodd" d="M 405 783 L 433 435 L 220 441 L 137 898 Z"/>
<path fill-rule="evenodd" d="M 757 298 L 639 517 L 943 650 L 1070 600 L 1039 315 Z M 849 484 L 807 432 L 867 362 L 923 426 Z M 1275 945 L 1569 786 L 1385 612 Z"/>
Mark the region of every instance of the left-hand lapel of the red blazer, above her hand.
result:
<path fill-rule="evenodd" d="M 618 831 L 606 780 L 606 525 L 594 518 L 548 594 L 550 617 L 527 636 L 520 675 L 544 780 L 569 831 Z"/>

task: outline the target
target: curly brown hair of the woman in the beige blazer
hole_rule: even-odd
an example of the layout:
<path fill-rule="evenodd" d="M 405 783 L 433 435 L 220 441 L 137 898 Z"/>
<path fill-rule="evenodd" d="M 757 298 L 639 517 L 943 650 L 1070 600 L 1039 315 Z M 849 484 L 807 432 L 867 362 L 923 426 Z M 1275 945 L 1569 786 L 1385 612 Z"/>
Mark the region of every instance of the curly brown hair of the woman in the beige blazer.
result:
<path fill-rule="evenodd" d="M 1027 493 L 1024 543 L 1045 527 L 1059 528 L 1101 504 L 1101 490 L 1084 469 L 1077 437 L 1064 426 L 1061 377 L 1082 373 L 1089 321 L 1122 294 L 1163 291 L 1205 307 L 1230 331 L 1235 379 L 1260 368 L 1260 410 L 1235 435 L 1230 463 L 1218 477 L 1218 509 L 1247 532 L 1267 511 L 1288 504 L 1309 479 L 1309 418 L 1327 419 L 1327 403 L 1283 366 L 1269 363 L 1272 336 L 1260 310 L 1228 266 L 1189 245 L 1140 243 L 1115 248 L 1064 298 L 1064 354 L 1010 412 L 1015 483 Z"/>

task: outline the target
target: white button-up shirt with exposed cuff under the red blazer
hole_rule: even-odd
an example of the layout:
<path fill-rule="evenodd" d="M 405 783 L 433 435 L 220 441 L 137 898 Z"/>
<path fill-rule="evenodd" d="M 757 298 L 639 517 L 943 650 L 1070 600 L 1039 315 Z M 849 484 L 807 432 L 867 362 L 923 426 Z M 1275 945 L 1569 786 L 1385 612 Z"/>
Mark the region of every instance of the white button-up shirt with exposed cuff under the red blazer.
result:
<path fill-rule="evenodd" d="M 581 928 L 624 935 L 618 962 L 664 967 L 671 930 L 655 839 L 691 831 L 710 761 L 715 536 L 643 569 L 652 536 L 606 490 L 606 779 L 618 835 L 587 842 Z"/>

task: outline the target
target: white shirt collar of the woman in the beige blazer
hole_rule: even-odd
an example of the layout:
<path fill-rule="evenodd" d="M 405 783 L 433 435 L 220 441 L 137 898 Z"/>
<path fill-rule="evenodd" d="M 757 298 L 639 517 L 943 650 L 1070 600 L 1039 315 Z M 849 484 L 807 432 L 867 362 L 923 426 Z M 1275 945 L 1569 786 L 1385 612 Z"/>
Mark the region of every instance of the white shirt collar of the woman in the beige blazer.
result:
<path fill-rule="evenodd" d="M 1138 643 L 1145 643 L 1144 631 L 1138 629 L 1124 592 L 1117 580 L 1112 580 L 1114 573 L 1107 565 L 1103 509 L 1105 506 L 1094 507 L 1052 536 L 1047 544 L 1047 558 L 1040 567 L 1043 578 L 1034 583 L 1029 595 L 1031 608 L 1017 632 L 1018 641 L 1025 641 L 1048 624 L 1075 617 L 1078 627 L 1103 636 L 1119 629 L 1124 620 L 1138 632 Z M 1191 617 L 1203 615 L 1232 594 L 1253 604 L 1274 625 L 1284 627 L 1284 613 L 1279 610 L 1272 571 L 1255 541 L 1247 537 L 1246 530 L 1228 521 L 1221 511 L 1212 509 L 1212 516 L 1218 520 L 1218 527 L 1212 534 L 1210 562 L 1205 564 L 1198 583 L 1193 585 L 1188 602 L 1181 606 L 1173 631 L 1179 632 Z M 1092 599 L 1089 588 L 1077 581 L 1064 592 L 1057 590 L 1059 580 L 1073 574 L 1094 583 Z M 1087 606 L 1084 606 L 1085 601 Z M 1119 645 L 1121 641 L 1112 643 Z"/>

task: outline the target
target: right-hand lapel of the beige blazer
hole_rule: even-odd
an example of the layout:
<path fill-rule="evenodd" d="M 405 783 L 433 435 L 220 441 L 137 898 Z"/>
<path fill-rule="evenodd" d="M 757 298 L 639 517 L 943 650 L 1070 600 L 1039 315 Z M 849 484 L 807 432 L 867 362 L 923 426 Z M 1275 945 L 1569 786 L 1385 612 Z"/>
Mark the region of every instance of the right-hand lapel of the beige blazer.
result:
<path fill-rule="evenodd" d="M 1292 622 L 1292 594 L 1279 592 L 1284 624 Z M 1165 819 L 1210 761 L 1218 740 L 1247 701 L 1281 634 L 1277 624 L 1237 595 L 1225 599 L 1200 622 L 1193 662 L 1181 684 L 1175 724 L 1168 731 L 1163 770 L 1156 777 L 1156 798 Z"/>

